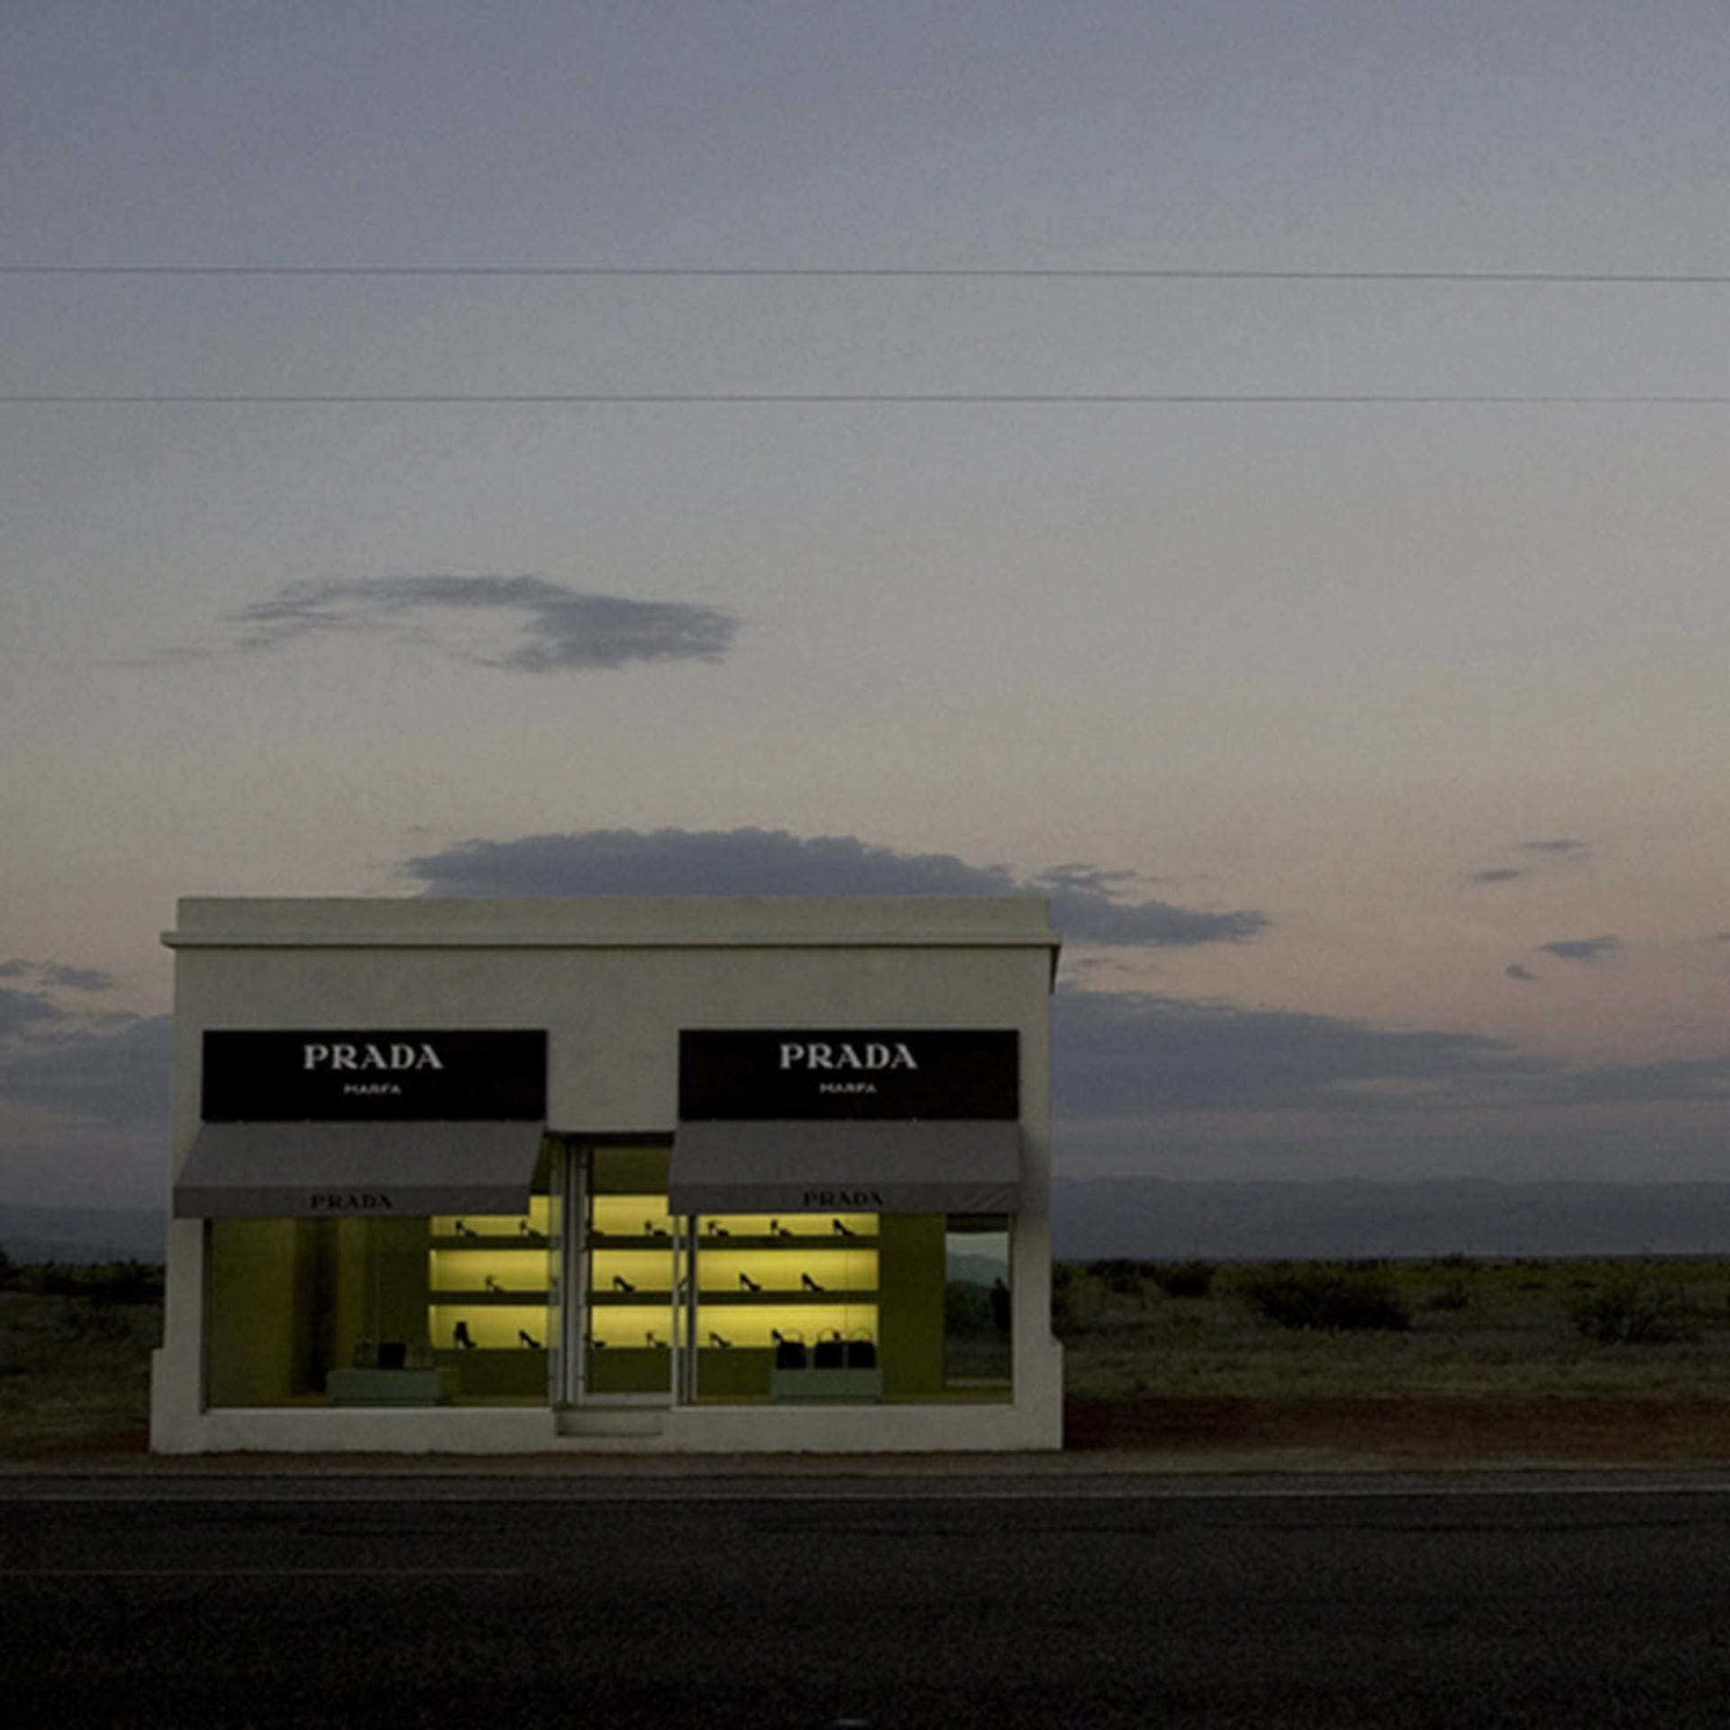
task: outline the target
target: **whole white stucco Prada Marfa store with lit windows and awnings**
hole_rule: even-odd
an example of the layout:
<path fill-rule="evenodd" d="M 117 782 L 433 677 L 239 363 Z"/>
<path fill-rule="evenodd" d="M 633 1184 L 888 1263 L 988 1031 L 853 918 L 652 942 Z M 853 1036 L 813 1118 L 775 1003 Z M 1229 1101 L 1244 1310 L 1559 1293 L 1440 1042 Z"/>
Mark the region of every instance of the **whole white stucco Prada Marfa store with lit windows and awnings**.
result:
<path fill-rule="evenodd" d="M 1055 1448 L 1035 898 L 187 900 L 152 1446 Z"/>

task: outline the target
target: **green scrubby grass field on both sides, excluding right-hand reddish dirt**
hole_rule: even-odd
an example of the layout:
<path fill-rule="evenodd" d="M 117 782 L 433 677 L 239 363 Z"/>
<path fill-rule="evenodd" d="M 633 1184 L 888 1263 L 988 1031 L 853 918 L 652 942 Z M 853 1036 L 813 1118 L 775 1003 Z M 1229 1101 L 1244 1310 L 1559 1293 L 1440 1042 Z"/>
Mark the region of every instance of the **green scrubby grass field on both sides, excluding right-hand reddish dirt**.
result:
<path fill-rule="evenodd" d="M 161 1270 L 0 1270 L 0 1458 L 144 1451 Z M 1270 1310 L 1344 1296 L 1348 1320 Z M 1301 1311 L 1298 1311 L 1301 1313 Z M 1730 1261 L 1066 1263 L 1076 1401 L 1730 1401 Z"/>

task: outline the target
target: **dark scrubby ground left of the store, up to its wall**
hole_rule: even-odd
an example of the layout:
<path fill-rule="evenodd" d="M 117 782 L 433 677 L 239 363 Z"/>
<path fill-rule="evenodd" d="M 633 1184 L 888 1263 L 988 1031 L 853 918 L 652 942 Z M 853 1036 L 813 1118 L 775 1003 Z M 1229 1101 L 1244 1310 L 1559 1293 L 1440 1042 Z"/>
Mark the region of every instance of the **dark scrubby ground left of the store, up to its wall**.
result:
<path fill-rule="evenodd" d="M 163 1270 L 16 1266 L 0 1251 L 0 1457 L 145 1446 Z"/>

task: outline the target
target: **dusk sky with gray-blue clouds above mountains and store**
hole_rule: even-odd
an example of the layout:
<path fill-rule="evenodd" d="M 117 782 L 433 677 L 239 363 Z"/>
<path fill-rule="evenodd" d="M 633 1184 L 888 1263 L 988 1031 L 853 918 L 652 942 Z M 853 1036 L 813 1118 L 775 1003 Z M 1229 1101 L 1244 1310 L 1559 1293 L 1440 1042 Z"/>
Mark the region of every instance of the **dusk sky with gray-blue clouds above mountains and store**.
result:
<path fill-rule="evenodd" d="M 1704 0 L 7 7 L 0 1201 L 166 1194 L 183 894 L 1040 893 L 1060 1176 L 1730 1178 L 1727 90 Z"/>

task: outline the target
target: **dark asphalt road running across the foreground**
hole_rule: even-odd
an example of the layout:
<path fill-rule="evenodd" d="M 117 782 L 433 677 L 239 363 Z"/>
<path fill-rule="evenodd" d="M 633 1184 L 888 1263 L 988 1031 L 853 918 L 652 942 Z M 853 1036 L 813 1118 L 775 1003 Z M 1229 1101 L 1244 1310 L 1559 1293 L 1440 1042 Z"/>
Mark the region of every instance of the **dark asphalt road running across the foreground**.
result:
<path fill-rule="evenodd" d="M 1730 1495 L 0 1490 L 26 1725 L 1730 1716 Z"/>

